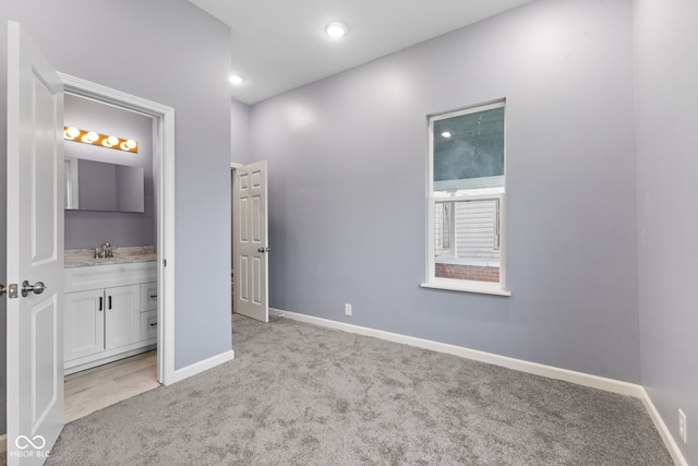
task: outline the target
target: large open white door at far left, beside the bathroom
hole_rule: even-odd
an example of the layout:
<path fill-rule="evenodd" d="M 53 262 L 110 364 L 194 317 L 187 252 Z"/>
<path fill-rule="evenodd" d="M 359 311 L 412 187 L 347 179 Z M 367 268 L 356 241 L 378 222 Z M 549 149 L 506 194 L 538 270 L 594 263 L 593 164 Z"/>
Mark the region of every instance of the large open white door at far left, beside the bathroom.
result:
<path fill-rule="evenodd" d="M 63 85 L 8 33 L 8 464 L 34 465 L 63 428 Z"/>

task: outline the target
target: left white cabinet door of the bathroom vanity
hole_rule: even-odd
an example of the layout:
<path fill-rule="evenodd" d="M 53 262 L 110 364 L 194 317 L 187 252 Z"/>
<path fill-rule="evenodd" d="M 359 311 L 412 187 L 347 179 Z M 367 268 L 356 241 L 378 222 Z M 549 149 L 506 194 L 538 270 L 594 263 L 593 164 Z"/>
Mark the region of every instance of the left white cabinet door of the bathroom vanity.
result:
<path fill-rule="evenodd" d="M 65 361 L 105 350 L 104 290 L 68 292 L 64 296 Z"/>

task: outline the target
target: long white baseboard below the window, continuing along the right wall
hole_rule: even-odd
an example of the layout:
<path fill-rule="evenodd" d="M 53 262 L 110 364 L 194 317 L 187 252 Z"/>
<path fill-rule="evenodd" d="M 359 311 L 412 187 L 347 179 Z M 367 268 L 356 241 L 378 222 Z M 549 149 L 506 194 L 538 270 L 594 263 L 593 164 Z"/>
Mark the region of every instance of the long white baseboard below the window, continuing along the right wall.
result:
<path fill-rule="evenodd" d="M 282 311 L 280 309 L 269 309 L 269 313 L 276 316 L 284 315 L 288 319 L 292 319 L 299 322 L 306 322 L 310 324 L 356 333 L 359 335 L 373 336 L 375 338 L 386 339 L 388 342 L 416 346 L 418 348 L 431 349 L 433 351 L 445 353 L 454 356 L 460 356 L 461 358 L 471 359 L 474 361 L 486 362 L 490 365 L 501 366 L 521 372 L 545 377 L 549 379 L 563 380 L 565 382 L 571 382 L 578 385 L 590 386 L 592 389 L 603 390 L 604 392 L 618 393 L 621 395 L 628 395 L 640 398 L 648 414 L 652 418 L 654 427 L 662 437 L 664 445 L 669 450 L 676 465 L 688 466 L 688 463 L 686 463 L 686 459 L 681 453 L 681 450 L 678 450 L 678 445 L 672 438 L 669 429 L 666 428 L 666 425 L 662 420 L 662 417 L 660 416 L 657 408 L 654 408 L 652 401 L 641 385 L 622 382 L 614 379 L 606 379 L 583 372 L 570 371 L 568 369 L 561 369 L 553 366 L 540 365 L 538 362 L 526 361 L 522 359 L 494 355 L 492 353 L 480 351 L 477 349 L 469 349 L 462 346 L 449 345 L 445 343 L 433 342 L 430 339 L 417 338 L 413 336 L 400 335 L 397 333 L 347 324 L 344 322 L 330 321 L 328 319 Z"/>

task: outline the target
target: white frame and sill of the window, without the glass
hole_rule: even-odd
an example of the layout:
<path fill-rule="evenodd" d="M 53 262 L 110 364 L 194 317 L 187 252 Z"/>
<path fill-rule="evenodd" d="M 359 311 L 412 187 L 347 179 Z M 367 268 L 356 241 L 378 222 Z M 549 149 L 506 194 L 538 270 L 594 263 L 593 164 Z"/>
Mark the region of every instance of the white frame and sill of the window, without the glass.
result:
<path fill-rule="evenodd" d="M 491 110 L 494 108 L 504 108 L 504 188 L 503 192 L 496 192 L 497 189 L 490 189 L 493 192 L 483 193 L 482 190 L 464 190 L 456 195 L 448 196 L 448 201 L 478 201 L 478 200 L 496 200 L 498 202 L 498 212 L 495 223 L 498 223 L 500 236 L 500 282 L 478 282 L 457 278 L 440 278 L 436 277 L 435 261 L 435 240 L 436 240 L 436 203 L 444 202 L 444 198 L 434 195 L 434 122 L 445 120 L 462 115 L 477 113 L 480 111 Z M 500 99 L 482 105 L 467 107 L 460 110 L 449 111 L 445 113 L 435 113 L 428 116 L 428 174 L 426 174 L 426 280 L 420 286 L 422 288 L 445 289 L 452 291 L 478 292 L 485 295 L 512 296 L 506 288 L 506 99 Z M 471 191 L 471 192 L 467 192 Z M 455 204 L 453 204 L 455 205 Z"/>

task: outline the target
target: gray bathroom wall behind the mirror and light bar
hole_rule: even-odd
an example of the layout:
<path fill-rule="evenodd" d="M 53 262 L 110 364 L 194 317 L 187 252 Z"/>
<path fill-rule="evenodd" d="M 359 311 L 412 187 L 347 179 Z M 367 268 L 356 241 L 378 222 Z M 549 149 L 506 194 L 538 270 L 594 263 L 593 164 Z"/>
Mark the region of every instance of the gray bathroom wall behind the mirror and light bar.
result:
<path fill-rule="evenodd" d="M 152 246 L 157 217 L 153 182 L 153 119 L 82 97 L 65 96 L 64 124 L 139 142 L 139 152 L 127 153 L 80 142 L 65 142 L 64 155 L 108 164 L 143 168 L 144 213 L 65 211 L 65 249 Z"/>

